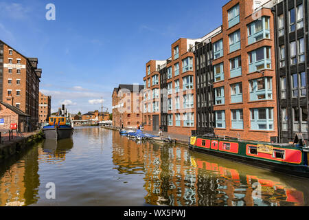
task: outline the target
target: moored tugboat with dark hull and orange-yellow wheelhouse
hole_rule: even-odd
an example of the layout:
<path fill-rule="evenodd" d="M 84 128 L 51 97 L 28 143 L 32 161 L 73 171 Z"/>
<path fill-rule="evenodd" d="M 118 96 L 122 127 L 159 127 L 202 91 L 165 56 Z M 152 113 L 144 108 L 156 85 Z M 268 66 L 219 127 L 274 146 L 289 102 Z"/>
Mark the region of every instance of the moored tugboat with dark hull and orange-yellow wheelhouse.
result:
<path fill-rule="evenodd" d="M 74 130 L 73 122 L 71 122 L 65 105 L 62 105 L 62 109 L 59 109 L 58 115 L 59 116 L 50 116 L 49 125 L 43 126 L 45 139 L 61 140 L 72 137 Z"/>

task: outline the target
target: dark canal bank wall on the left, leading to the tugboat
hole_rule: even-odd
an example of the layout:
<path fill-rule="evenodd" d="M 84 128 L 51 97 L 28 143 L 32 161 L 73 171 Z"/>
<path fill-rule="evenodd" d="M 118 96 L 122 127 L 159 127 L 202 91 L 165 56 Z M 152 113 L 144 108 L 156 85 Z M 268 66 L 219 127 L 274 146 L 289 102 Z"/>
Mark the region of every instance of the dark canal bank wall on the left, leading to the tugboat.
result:
<path fill-rule="evenodd" d="M 42 131 L 33 133 L 25 133 L 22 137 L 12 137 L 9 141 L 0 144 L 0 162 L 3 159 L 19 154 L 23 149 L 33 146 L 38 141 L 43 140 L 44 134 Z"/>

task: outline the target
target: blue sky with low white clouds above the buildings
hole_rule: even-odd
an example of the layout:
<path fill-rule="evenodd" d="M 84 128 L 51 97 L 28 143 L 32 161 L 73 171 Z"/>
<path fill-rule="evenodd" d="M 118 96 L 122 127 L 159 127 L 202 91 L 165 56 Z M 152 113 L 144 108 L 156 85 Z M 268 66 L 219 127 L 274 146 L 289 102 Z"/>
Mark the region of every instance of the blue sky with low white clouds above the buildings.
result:
<path fill-rule="evenodd" d="M 40 90 L 71 113 L 111 111 L 119 84 L 143 84 L 145 64 L 165 60 L 179 38 L 196 39 L 222 24 L 228 0 L 1 0 L 0 39 L 43 69 Z M 45 6 L 54 3 L 56 20 Z"/>

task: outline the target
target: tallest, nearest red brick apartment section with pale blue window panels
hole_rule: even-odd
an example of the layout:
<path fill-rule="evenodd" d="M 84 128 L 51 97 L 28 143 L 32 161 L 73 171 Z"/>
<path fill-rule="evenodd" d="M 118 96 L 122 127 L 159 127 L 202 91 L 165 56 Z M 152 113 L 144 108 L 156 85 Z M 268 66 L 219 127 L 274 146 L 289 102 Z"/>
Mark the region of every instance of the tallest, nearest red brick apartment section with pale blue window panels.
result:
<path fill-rule="evenodd" d="M 274 23 L 267 1 L 232 0 L 214 36 L 216 135 L 271 141 L 277 137 Z"/>

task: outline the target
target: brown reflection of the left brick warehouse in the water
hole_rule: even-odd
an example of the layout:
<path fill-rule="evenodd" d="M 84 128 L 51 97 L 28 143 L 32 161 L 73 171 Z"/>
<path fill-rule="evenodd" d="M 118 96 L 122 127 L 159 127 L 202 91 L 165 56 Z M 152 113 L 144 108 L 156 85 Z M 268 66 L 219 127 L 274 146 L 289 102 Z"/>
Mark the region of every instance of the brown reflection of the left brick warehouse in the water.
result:
<path fill-rule="evenodd" d="M 0 206 L 28 206 L 38 201 L 38 146 L 0 167 Z"/>

